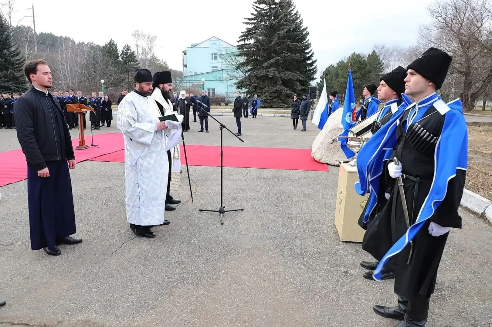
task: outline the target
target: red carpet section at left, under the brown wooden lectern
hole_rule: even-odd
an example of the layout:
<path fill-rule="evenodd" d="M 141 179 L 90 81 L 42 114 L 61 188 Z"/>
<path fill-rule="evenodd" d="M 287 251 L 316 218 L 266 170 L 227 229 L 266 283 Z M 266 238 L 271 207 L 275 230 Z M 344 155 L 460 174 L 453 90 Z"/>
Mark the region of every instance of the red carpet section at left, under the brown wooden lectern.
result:
<path fill-rule="evenodd" d="M 74 149 L 79 145 L 78 141 L 78 138 L 72 139 Z M 91 136 L 86 136 L 86 144 L 91 144 Z M 81 161 L 124 149 L 123 136 L 119 133 L 94 135 L 94 144 L 98 144 L 99 148 L 90 147 L 85 150 L 75 150 L 75 161 L 80 163 Z M 22 150 L 0 153 L 0 171 L 0 187 L 25 180 L 28 177 L 28 173 L 26 157 Z"/>

